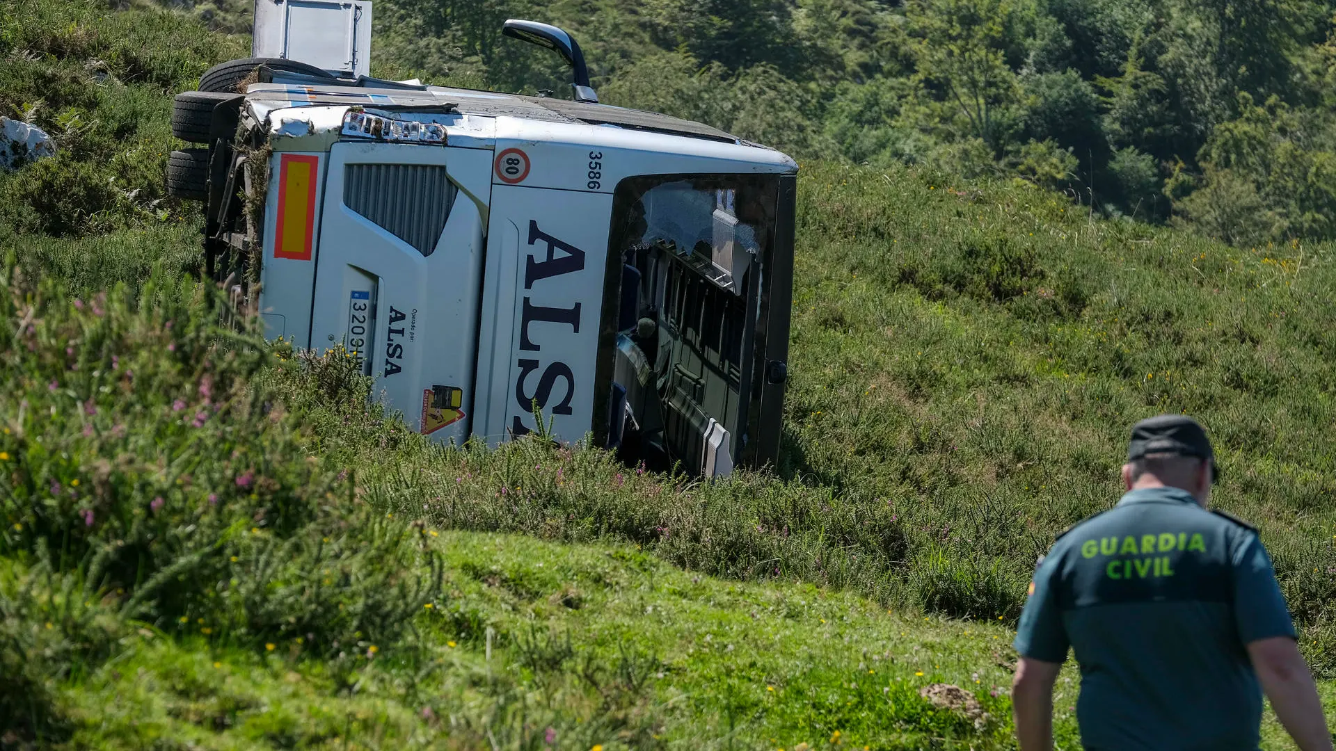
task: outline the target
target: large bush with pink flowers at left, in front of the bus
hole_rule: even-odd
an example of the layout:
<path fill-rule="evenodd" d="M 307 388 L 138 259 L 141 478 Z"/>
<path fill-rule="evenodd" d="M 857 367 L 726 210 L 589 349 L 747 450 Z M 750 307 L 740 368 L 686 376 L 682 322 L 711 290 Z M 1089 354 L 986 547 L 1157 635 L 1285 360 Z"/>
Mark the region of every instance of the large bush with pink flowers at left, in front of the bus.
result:
<path fill-rule="evenodd" d="M 69 299 L 12 261 L 3 281 L 0 556 L 207 639 L 395 641 L 430 560 L 307 453 L 301 416 L 258 378 L 299 369 L 286 347 L 219 329 L 220 294 L 194 283 Z"/>

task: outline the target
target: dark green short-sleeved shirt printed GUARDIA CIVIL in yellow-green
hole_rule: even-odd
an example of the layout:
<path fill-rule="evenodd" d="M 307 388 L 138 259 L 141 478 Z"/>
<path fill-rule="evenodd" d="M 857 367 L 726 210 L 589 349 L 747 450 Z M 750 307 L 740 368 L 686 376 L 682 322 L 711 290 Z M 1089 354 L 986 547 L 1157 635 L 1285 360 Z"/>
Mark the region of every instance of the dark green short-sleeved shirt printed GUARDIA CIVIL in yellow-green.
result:
<path fill-rule="evenodd" d="M 1261 688 L 1244 644 L 1295 636 L 1257 533 L 1186 490 L 1133 490 L 1063 535 L 1034 573 L 1015 649 L 1081 665 L 1090 751 L 1256 751 Z"/>

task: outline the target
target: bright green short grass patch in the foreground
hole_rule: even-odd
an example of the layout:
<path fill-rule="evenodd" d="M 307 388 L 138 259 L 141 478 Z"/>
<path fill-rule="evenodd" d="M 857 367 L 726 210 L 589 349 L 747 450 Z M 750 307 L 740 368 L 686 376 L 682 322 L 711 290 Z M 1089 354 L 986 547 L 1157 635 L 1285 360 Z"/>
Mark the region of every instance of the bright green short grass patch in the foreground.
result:
<path fill-rule="evenodd" d="M 445 585 L 414 619 L 420 636 L 398 651 L 358 645 L 355 690 L 293 640 L 242 651 L 191 623 L 188 636 L 132 635 L 123 656 L 68 684 L 71 743 L 342 747 L 351 735 L 472 748 L 490 732 L 537 748 L 552 727 L 560 748 L 824 747 L 835 731 L 850 747 L 1003 744 L 1007 704 L 989 691 L 1007 684 L 1005 627 L 700 579 L 627 547 L 457 532 L 430 545 Z M 998 722 L 978 732 L 933 711 L 918 695 L 933 682 L 979 690 Z"/>

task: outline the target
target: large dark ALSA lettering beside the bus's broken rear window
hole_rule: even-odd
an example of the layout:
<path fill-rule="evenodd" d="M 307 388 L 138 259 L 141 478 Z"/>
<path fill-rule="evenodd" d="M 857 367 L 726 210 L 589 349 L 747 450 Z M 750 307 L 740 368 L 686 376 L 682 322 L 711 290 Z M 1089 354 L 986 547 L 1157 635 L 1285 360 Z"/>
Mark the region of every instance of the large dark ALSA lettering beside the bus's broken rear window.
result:
<path fill-rule="evenodd" d="M 530 219 L 529 245 L 533 246 L 536 243 L 541 243 L 546 250 L 541 255 L 530 253 L 525 258 L 524 289 L 526 291 L 533 290 L 536 283 L 542 283 L 544 286 L 557 285 L 560 282 L 553 279 L 584 270 L 585 254 L 582 250 L 544 233 L 538 229 L 538 222 Z M 516 361 L 520 376 L 514 382 L 514 404 L 520 414 L 532 416 L 534 402 L 537 402 L 538 409 L 548 409 L 548 405 L 553 402 L 553 397 L 556 396 L 560 398 L 556 404 L 552 404 L 552 414 L 570 414 L 573 412 L 570 409 L 570 400 L 576 396 L 576 374 L 569 363 L 560 359 L 552 361 L 545 366 L 542 365 L 542 361 L 538 359 L 542 346 L 533 341 L 529 326 L 534 322 L 560 323 L 570 326 L 570 331 L 578 334 L 580 302 L 576 302 L 570 307 L 548 307 L 534 305 L 532 297 L 526 294 L 524 295 L 522 305 L 524 307 L 520 313 L 520 351 L 533 353 L 533 357 L 521 355 Z M 530 386 L 529 377 L 540 367 L 542 371 L 538 373 L 537 382 Z M 520 420 L 520 414 L 513 416 L 510 421 L 510 433 L 514 436 L 529 433 L 529 428 Z"/>

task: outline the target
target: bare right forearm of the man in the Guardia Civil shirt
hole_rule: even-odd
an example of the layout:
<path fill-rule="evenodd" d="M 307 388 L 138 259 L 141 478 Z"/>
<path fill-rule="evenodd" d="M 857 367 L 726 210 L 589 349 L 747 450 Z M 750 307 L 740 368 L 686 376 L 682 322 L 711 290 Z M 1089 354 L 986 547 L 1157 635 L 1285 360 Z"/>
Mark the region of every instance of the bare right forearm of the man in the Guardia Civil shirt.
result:
<path fill-rule="evenodd" d="M 1248 657 L 1280 724 L 1285 726 L 1300 751 L 1332 751 L 1332 735 L 1327 730 L 1313 673 L 1308 671 L 1295 640 L 1272 636 L 1250 641 Z"/>

